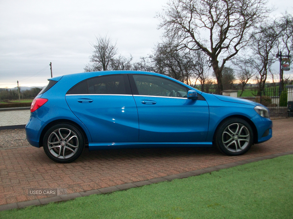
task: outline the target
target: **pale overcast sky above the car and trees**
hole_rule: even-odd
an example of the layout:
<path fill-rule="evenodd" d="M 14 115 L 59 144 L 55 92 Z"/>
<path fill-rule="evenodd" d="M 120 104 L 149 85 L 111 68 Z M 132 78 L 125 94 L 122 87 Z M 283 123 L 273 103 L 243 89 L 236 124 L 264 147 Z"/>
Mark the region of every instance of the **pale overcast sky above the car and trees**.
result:
<path fill-rule="evenodd" d="M 44 86 L 84 71 L 96 36 L 117 42 L 134 61 L 152 52 L 162 31 L 156 13 L 167 0 L 0 0 L 0 88 Z M 270 0 L 293 12 L 292 0 Z"/>

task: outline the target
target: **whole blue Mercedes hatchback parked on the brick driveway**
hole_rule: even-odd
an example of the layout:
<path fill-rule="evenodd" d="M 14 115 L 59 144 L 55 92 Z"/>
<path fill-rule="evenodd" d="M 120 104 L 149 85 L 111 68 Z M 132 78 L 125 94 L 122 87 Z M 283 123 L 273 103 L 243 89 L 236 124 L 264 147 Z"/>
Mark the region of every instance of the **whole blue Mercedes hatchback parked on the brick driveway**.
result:
<path fill-rule="evenodd" d="M 272 137 L 269 110 L 208 94 L 158 73 L 108 71 L 49 79 L 26 125 L 32 146 L 58 163 L 89 150 L 216 146 L 242 155 Z"/>

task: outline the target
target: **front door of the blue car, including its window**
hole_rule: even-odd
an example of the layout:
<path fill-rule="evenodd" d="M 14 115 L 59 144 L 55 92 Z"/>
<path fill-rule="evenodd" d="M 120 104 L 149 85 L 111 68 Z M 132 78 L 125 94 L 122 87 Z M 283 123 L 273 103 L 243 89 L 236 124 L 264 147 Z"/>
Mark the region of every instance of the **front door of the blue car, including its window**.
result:
<path fill-rule="evenodd" d="M 139 117 L 139 142 L 204 142 L 209 107 L 188 88 L 164 77 L 129 74 Z M 199 95 L 200 96 L 200 95 Z"/>

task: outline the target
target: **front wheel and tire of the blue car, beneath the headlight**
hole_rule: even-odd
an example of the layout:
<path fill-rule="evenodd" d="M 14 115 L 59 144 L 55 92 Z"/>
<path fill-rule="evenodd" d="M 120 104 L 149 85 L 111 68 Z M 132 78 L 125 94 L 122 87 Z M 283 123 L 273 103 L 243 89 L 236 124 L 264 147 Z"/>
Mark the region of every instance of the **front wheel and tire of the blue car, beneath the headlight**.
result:
<path fill-rule="evenodd" d="M 220 124 L 215 132 L 215 146 L 230 156 L 245 154 L 253 144 L 253 132 L 248 122 L 231 118 Z"/>

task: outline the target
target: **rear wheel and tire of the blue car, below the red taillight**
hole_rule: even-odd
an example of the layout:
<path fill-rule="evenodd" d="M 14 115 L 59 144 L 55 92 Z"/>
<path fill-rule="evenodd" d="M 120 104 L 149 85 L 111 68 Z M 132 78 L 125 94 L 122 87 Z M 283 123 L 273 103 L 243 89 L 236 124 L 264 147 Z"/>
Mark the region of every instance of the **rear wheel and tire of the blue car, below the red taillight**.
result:
<path fill-rule="evenodd" d="M 61 123 L 49 128 L 43 137 L 46 155 L 58 163 L 76 160 L 84 150 L 83 134 L 73 125 Z"/>

